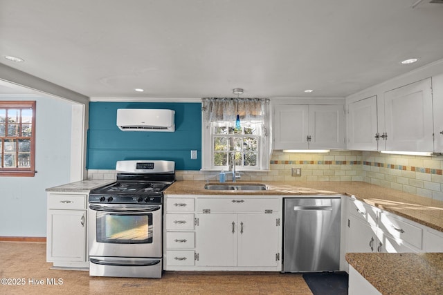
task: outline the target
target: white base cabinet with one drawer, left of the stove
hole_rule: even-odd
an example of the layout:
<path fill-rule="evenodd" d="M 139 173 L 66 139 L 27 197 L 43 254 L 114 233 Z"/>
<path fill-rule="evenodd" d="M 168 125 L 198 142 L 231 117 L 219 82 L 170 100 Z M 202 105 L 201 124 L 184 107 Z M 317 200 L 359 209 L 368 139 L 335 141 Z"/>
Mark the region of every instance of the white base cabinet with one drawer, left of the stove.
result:
<path fill-rule="evenodd" d="M 46 261 L 54 267 L 89 267 L 87 194 L 48 193 Z"/>

